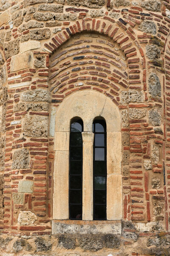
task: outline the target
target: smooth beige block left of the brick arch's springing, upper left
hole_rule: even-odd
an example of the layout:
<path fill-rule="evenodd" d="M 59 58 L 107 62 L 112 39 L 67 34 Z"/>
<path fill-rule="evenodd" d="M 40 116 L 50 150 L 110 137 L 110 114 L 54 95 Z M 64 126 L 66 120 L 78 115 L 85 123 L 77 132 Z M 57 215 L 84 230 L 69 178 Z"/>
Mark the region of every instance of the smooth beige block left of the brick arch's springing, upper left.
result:
<path fill-rule="evenodd" d="M 32 68 L 33 66 L 33 53 L 26 52 L 11 57 L 11 71 L 22 70 L 24 68 Z"/>

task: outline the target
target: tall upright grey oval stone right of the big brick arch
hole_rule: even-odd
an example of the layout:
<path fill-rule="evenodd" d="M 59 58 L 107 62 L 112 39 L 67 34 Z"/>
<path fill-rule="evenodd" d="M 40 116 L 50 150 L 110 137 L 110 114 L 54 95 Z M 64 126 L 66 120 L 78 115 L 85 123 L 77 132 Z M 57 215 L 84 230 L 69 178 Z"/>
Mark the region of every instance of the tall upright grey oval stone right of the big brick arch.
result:
<path fill-rule="evenodd" d="M 161 96 L 161 83 L 159 80 L 159 77 L 156 76 L 156 73 L 150 73 L 149 79 L 148 79 L 148 85 L 149 85 L 149 93 L 152 96 Z"/>

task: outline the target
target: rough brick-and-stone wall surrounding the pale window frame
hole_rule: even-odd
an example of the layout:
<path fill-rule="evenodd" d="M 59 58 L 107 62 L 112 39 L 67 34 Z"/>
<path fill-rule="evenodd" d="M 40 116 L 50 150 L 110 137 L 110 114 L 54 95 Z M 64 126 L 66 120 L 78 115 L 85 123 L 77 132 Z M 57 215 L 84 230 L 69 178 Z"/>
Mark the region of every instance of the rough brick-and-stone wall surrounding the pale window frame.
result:
<path fill-rule="evenodd" d="M 170 255 L 169 32 L 169 0 L 0 1 L 0 255 Z M 119 107 L 123 219 L 51 235 L 55 114 L 78 90 Z"/>

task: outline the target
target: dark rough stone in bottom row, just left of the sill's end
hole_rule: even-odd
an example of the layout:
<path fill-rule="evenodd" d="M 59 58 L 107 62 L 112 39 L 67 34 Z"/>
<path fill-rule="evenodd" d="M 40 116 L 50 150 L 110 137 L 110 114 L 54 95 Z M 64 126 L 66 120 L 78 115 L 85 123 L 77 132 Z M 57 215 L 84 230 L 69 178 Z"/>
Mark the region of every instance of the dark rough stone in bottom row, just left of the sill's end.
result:
<path fill-rule="evenodd" d="M 37 237 L 35 239 L 36 251 L 37 252 L 48 252 L 51 250 L 52 243 L 50 237 L 42 238 Z"/>

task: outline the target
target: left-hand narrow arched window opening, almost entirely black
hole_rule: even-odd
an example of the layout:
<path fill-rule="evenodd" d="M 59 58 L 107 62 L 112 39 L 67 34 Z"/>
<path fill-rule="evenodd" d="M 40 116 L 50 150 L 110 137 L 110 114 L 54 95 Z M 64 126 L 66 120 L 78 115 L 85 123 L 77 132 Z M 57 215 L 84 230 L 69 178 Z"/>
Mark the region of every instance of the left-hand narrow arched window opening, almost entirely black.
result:
<path fill-rule="evenodd" d="M 69 218 L 82 219 L 82 131 L 81 119 L 73 119 L 70 129 Z"/>

